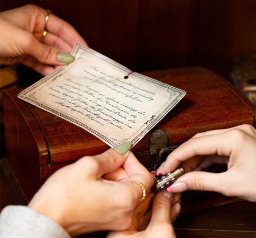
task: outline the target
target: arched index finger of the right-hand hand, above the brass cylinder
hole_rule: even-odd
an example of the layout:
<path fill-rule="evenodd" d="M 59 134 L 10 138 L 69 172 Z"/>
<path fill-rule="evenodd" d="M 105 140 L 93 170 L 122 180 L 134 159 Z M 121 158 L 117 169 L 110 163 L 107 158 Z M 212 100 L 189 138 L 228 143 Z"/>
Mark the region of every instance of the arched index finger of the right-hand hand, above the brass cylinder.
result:
<path fill-rule="evenodd" d="M 178 147 L 175 151 L 168 155 L 166 162 L 163 164 L 161 174 L 175 170 L 179 164 L 196 155 L 227 155 L 232 153 L 232 142 L 230 140 L 231 131 L 220 134 L 204 135 L 198 138 L 191 138 L 185 142 L 182 147 Z"/>

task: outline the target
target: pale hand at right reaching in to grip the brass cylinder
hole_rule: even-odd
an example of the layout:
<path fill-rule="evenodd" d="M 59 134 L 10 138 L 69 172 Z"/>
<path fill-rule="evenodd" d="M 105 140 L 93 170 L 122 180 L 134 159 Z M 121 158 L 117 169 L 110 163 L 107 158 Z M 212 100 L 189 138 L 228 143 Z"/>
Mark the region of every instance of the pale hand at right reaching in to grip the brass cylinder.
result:
<path fill-rule="evenodd" d="M 256 202 L 256 130 L 251 125 L 196 134 L 168 156 L 157 174 L 180 163 L 186 174 L 167 191 L 207 190 Z M 200 171 L 213 163 L 226 163 L 227 171 Z"/>

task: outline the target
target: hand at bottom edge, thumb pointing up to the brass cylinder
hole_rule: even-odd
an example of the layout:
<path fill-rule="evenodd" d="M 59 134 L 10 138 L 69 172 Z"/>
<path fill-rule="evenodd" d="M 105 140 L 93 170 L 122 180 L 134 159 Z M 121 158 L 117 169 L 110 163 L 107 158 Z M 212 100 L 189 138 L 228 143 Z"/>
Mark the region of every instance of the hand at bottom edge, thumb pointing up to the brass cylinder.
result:
<path fill-rule="evenodd" d="M 175 238 L 172 222 L 180 212 L 181 194 L 175 194 L 172 197 L 171 193 L 161 191 L 154 197 L 152 210 L 149 210 L 153 196 L 152 192 L 135 209 L 132 225 L 126 231 L 109 232 L 107 238 Z"/>

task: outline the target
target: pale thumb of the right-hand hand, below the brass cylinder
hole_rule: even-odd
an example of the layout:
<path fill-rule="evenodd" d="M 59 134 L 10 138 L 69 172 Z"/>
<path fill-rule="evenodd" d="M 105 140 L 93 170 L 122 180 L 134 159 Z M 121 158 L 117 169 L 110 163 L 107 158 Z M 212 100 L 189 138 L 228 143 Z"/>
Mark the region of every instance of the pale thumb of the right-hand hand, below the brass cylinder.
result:
<path fill-rule="evenodd" d="M 224 173 L 209 173 L 202 171 L 188 172 L 177 179 L 177 181 L 167 188 L 169 193 L 181 193 L 186 190 L 215 191 L 225 193 L 224 191 Z"/>

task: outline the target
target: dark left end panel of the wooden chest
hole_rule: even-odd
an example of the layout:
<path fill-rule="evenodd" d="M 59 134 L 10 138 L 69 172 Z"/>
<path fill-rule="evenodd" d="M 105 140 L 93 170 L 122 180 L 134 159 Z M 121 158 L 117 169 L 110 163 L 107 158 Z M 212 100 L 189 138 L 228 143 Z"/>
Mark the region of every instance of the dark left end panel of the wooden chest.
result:
<path fill-rule="evenodd" d="M 20 89 L 3 91 L 5 153 L 21 189 L 30 200 L 50 176 L 48 148 L 33 115 L 17 98 L 18 91 Z"/>

